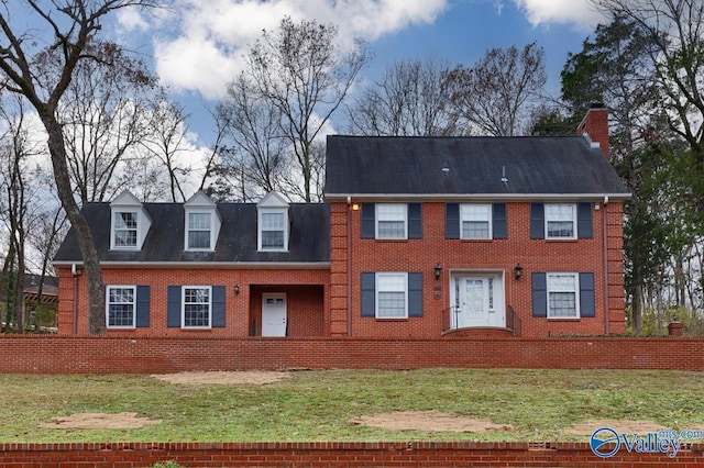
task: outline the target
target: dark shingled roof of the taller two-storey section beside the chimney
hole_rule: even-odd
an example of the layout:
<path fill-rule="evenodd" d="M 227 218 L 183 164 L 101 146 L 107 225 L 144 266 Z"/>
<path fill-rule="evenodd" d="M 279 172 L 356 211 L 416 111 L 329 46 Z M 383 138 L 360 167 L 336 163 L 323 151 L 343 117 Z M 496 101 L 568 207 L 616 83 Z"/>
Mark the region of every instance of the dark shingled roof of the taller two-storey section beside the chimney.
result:
<path fill-rule="evenodd" d="M 583 136 L 328 136 L 326 196 L 628 191 Z M 505 172 L 504 172 L 505 169 Z M 507 182 L 502 182 L 506 175 Z"/>

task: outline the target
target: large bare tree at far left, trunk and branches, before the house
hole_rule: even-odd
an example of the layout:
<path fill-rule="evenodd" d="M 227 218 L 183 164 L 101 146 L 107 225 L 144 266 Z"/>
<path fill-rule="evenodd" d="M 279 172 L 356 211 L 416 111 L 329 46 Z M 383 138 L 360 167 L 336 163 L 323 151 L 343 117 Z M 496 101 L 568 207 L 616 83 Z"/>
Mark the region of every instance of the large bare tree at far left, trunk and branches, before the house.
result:
<path fill-rule="evenodd" d="M 61 115 L 61 100 L 68 89 L 76 67 L 82 60 L 95 60 L 87 47 L 102 26 L 102 20 L 117 10 L 128 7 L 150 5 L 152 0 L 52 0 L 50 5 L 37 0 L 24 0 L 34 24 L 44 24 L 50 35 L 40 40 L 36 30 L 21 30 L 19 24 L 32 24 L 26 18 L 13 24 L 13 18 L 3 3 L 0 13 L 0 89 L 23 96 L 36 110 L 47 133 L 48 152 L 54 168 L 54 179 L 62 205 L 76 232 L 88 285 L 89 331 L 106 332 L 105 290 L 102 274 L 90 226 L 74 199 L 67 149 Z M 43 80 L 37 63 L 30 54 L 36 42 L 51 41 L 50 48 L 61 57 L 61 73 Z"/>

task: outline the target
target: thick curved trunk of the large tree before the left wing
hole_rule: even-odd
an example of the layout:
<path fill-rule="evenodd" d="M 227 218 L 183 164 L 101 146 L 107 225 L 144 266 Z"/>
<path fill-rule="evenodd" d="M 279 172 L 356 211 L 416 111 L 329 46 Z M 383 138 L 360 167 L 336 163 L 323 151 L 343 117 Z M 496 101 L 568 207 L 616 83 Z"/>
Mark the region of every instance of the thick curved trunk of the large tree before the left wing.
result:
<path fill-rule="evenodd" d="M 84 261 L 86 271 L 86 283 L 88 287 L 88 330 L 91 335 L 106 333 L 105 316 L 105 287 L 102 285 L 102 274 L 98 252 L 92 241 L 92 234 L 86 218 L 80 212 L 76 203 L 70 186 L 70 177 L 66 165 L 66 147 L 64 145 L 64 134 L 62 125 L 51 111 L 40 114 L 42 123 L 48 134 L 48 151 L 52 156 L 54 168 L 54 180 L 58 190 L 58 198 L 62 201 L 66 216 L 76 233 L 78 248 Z"/>

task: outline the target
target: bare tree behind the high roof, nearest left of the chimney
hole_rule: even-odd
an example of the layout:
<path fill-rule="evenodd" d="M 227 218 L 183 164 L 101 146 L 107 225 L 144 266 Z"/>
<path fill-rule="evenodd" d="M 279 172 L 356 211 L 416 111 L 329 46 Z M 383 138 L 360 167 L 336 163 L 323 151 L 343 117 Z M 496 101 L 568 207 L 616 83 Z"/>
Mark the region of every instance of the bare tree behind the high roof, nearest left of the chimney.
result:
<path fill-rule="evenodd" d="M 465 133 L 514 136 L 526 133 L 530 102 L 546 83 L 544 51 L 536 43 L 522 51 L 492 48 L 472 68 L 457 66 L 447 85 Z"/>

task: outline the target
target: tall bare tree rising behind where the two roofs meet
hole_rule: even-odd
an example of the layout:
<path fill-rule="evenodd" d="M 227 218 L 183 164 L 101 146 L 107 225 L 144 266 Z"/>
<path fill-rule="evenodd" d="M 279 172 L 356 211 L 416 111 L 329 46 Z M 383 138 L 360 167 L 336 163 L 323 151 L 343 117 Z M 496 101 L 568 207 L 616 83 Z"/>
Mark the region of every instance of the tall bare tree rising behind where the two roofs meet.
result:
<path fill-rule="evenodd" d="M 280 131 L 293 149 L 302 179 L 302 198 L 311 201 L 311 145 L 344 100 L 369 53 L 362 43 L 344 52 L 337 27 L 284 18 L 264 31 L 249 51 L 245 75 L 255 91 L 282 115 Z"/>

